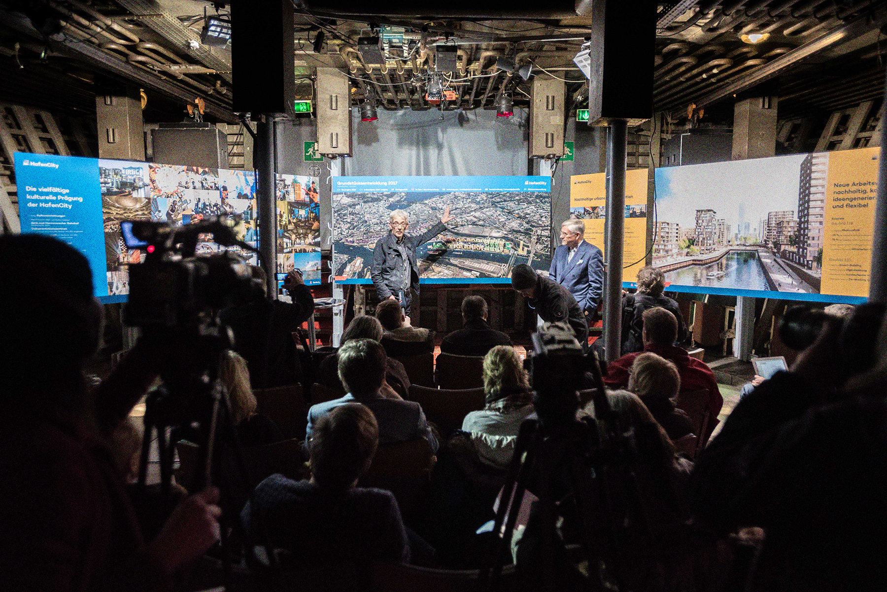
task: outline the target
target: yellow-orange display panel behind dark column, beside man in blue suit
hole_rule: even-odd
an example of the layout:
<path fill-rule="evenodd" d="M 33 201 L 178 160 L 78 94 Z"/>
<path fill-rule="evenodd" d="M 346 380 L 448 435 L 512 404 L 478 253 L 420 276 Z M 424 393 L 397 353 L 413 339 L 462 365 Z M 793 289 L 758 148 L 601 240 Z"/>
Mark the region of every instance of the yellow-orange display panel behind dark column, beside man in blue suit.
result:
<path fill-rule="evenodd" d="M 647 169 L 625 172 L 624 240 L 622 281 L 631 284 L 647 255 Z M 585 221 L 585 242 L 607 257 L 604 223 L 607 216 L 607 174 L 573 175 L 569 178 L 569 217 Z"/>

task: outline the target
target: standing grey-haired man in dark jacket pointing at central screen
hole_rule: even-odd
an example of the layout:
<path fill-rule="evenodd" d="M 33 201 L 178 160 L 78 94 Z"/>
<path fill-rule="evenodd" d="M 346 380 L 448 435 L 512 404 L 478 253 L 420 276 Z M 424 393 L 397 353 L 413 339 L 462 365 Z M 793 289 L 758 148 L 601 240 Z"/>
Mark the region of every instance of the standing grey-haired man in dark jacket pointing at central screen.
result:
<path fill-rule="evenodd" d="M 450 207 L 443 210 L 440 222 L 413 237 L 406 234 L 410 226 L 410 214 L 395 210 L 389 214 L 389 233 L 376 243 L 373 252 L 371 275 L 379 300 L 398 300 L 404 308 L 404 315 L 411 315 L 412 291 L 419 293 L 419 264 L 416 262 L 416 248 L 435 238 L 446 230 L 452 220 Z"/>

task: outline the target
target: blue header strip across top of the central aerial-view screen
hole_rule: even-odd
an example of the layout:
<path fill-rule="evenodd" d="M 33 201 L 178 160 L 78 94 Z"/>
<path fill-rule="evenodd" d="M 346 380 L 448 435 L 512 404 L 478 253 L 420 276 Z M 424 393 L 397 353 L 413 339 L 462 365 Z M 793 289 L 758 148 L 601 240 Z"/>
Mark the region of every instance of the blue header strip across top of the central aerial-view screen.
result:
<path fill-rule="evenodd" d="M 552 191 L 550 176 L 334 176 L 334 193 L 370 191 Z"/>

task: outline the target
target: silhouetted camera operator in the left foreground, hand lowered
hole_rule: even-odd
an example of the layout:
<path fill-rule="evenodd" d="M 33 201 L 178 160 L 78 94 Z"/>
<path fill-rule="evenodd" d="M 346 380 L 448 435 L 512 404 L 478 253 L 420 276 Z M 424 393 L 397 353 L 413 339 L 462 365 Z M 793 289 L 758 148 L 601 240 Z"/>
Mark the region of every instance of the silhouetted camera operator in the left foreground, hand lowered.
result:
<path fill-rule="evenodd" d="M 111 440 L 158 376 L 139 341 L 87 388 L 102 308 L 89 263 L 40 235 L 0 237 L 0 582 L 4 590 L 166 590 L 219 537 L 219 492 L 182 502 L 145 541 Z"/>

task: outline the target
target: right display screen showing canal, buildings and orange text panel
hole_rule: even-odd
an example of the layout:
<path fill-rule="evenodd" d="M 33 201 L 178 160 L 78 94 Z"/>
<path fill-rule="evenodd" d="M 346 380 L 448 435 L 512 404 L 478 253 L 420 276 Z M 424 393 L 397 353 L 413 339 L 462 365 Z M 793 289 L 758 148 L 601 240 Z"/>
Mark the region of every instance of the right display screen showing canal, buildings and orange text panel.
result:
<path fill-rule="evenodd" d="M 863 300 L 879 151 L 657 168 L 653 264 L 667 289 Z"/>

